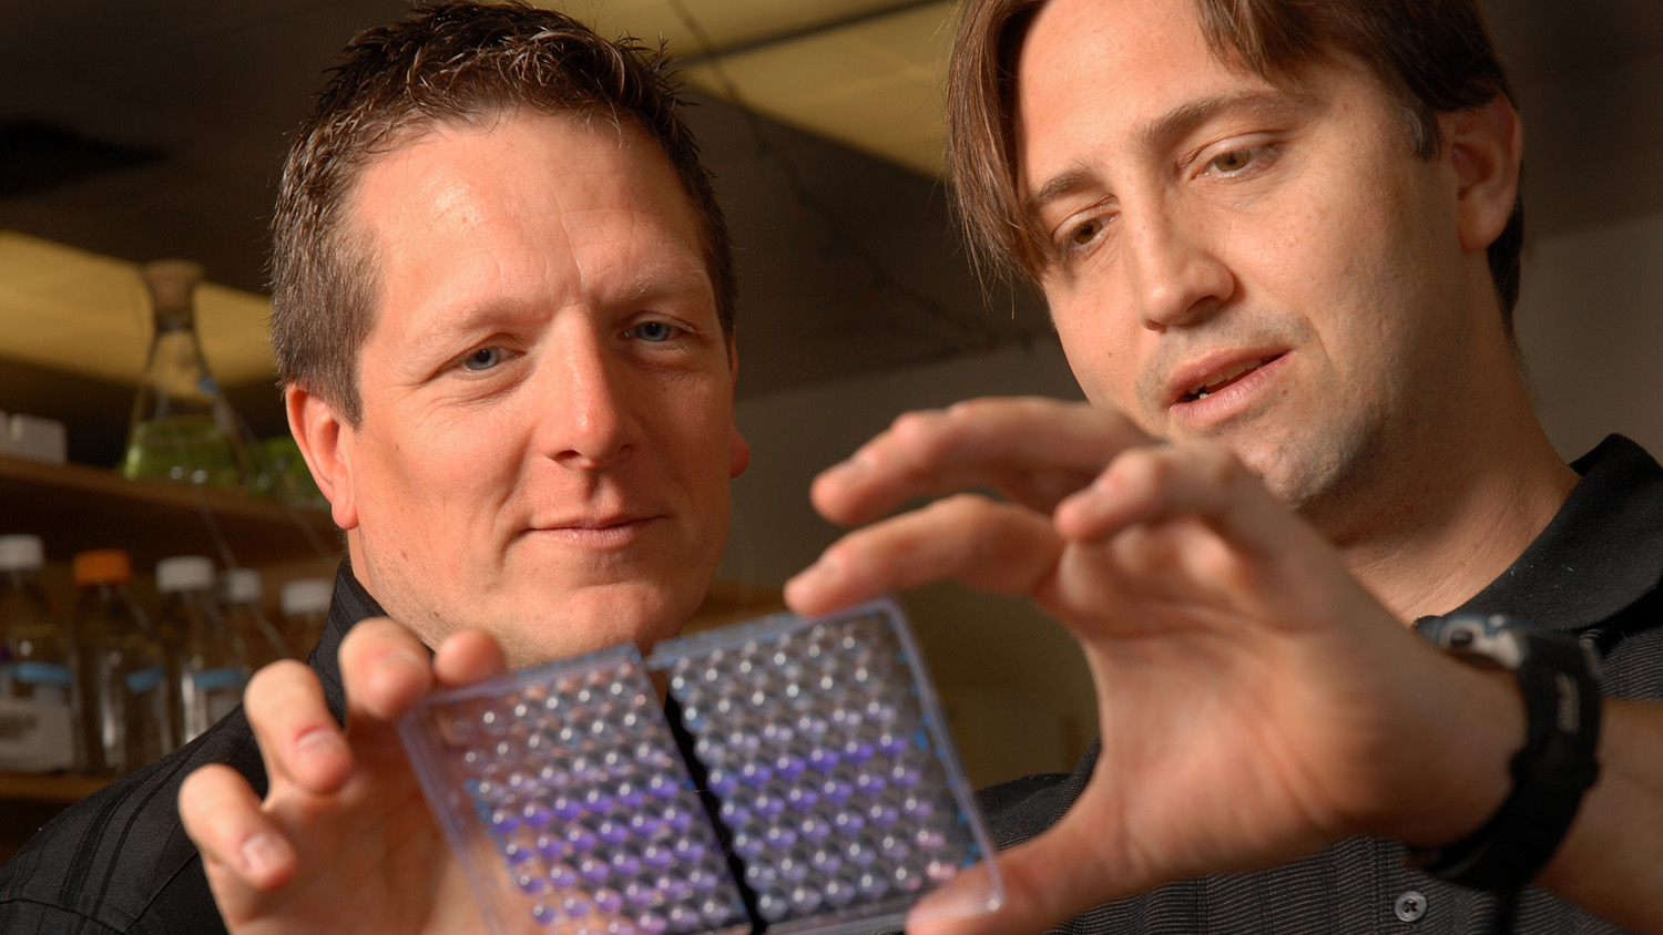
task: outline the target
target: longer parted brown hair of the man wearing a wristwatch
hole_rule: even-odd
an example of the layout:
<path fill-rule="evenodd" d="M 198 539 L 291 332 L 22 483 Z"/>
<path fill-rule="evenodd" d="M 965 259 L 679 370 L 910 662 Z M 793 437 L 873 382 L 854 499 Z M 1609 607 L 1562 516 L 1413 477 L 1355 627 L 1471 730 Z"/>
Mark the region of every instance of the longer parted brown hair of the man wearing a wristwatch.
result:
<path fill-rule="evenodd" d="M 948 166 L 978 264 L 1038 279 L 1044 257 L 1016 199 L 1014 78 L 1028 27 L 1046 0 L 970 0 L 948 78 Z M 1267 81 L 1334 50 L 1364 60 L 1404 111 L 1417 156 L 1442 146 L 1438 115 L 1475 108 L 1512 86 L 1477 0 L 1194 0 L 1212 53 Z M 1488 249 L 1508 335 L 1518 302 L 1523 203 Z"/>

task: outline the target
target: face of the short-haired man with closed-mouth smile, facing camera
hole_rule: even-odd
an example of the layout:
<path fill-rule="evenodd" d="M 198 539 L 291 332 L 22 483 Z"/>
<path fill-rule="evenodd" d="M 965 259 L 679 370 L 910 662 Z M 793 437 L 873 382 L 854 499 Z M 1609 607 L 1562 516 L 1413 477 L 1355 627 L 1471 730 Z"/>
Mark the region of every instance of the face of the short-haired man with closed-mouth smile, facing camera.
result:
<path fill-rule="evenodd" d="M 429 644 L 479 628 L 514 664 L 680 629 L 748 453 L 667 158 L 634 126 L 509 113 L 379 156 L 349 208 L 381 292 L 333 505 L 366 588 Z"/>

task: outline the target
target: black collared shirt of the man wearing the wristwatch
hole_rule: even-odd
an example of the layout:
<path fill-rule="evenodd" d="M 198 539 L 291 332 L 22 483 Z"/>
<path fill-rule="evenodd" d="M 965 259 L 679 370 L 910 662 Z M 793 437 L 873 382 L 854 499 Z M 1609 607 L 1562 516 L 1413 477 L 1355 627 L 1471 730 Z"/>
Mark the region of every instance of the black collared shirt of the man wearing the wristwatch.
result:
<path fill-rule="evenodd" d="M 1542 535 L 1483 591 L 1453 608 L 1582 634 L 1603 653 L 1613 698 L 1663 698 L 1663 468 L 1611 435 L 1572 467 L 1577 488 Z M 1453 611 L 1452 611 L 1453 613 Z M 1069 776 L 1034 776 L 981 794 L 999 849 L 1046 830 L 1079 797 L 1098 746 Z M 1415 739 L 1404 737 L 1414 757 Z M 1108 772 L 1113 776 L 1113 769 Z M 1455 935 L 1497 925 L 1495 897 L 1402 864 L 1404 845 L 1350 839 L 1274 870 L 1214 875 L 1101 905 L 1061 925 L 1069 935 Z M 1525 890 L 1512 932 L 1618 928 L 1543 890 Z"/>

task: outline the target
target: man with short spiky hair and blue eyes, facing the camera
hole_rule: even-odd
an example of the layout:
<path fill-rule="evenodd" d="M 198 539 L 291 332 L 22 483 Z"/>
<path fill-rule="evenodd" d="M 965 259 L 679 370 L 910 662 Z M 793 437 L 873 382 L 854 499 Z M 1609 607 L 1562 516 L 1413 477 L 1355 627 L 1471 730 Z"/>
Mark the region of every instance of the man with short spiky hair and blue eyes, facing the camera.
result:
<path fill-rule="evenodd" d="M 732 259 L 662 60 L 519 3 L 371 30 L 273 234 L 289 427 L 348 543 L 329 623 L 38 834 L 3 932 L 482 932 L 399 712 L 649 646 L 715 575 Z"/>

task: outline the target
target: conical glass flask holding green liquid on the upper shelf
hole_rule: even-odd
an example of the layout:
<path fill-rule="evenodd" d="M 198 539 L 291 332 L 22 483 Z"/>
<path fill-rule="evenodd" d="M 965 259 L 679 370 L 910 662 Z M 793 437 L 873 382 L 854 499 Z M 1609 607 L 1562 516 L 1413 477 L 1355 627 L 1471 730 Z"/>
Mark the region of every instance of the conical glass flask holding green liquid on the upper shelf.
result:
<path fill-rule="evenodd" d="M 231 405 L 220 392 L 196 339 L 191 292 L 200 264 L 163 259 L 143 267 L 156 335 L 133 400 L 121 473 L 210 487 L 243 487 L 248 452 Z"/>

